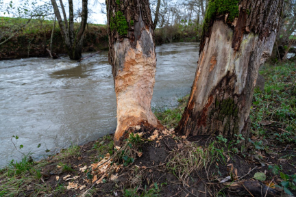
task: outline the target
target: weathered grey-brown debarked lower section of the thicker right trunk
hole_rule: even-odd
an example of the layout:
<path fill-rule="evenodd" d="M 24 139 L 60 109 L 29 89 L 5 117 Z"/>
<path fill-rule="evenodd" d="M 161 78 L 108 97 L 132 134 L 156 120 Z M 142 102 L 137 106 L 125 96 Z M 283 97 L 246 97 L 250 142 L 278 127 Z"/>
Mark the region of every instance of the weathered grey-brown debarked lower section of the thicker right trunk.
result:
<path fill-rule="evenodd" d="M 271 53 L 275 33 L 265 40 L 253 33 L 243 34 L 238 51 L 233 40 L 233 29 L 223 21 L 214 21 L 201 51 L 188 106 L 176 129 L 182 134 L 248 135 L 258 68 L 263 52 Z"/>

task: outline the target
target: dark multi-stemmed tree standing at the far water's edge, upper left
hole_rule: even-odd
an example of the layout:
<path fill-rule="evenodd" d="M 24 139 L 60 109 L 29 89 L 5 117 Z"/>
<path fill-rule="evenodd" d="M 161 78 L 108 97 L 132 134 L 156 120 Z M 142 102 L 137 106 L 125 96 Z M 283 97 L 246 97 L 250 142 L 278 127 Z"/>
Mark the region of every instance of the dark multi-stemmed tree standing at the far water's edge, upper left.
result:
<path fill-rule="evenodd" d="M 62 12 L 64 15 L 64 21 L 58 9 L 56 0 L 51 0 L 53 5 L 53 10 L 55 11 L 56 18 L 58 19 L 58 24 L 61 29 L 62 38 L 64 40 L 65 47 L 68 51 L 71 60 L 79 60 L 82 57 L 82 47 L 84 40 L 84 30 L 86 28 L 87 18 L 88 18 L 88 0 L 82 0 L 82 21 L 76 33 L 74 30 L 74 8 L 73 0 L 69 0 L 69 24 L 66 18 L 66 12 L 64 10 L 64 5 L 62 0 L 60 0 L 62 6 Z"/>

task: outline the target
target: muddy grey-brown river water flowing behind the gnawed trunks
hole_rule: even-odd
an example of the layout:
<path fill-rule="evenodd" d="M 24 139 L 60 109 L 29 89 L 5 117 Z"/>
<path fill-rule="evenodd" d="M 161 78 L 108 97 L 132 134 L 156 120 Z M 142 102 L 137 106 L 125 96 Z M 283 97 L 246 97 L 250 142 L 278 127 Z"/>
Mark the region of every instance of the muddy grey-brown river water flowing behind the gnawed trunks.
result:
<path fill-rule="evenodd" d="M 174 107 L 190 92 L 198 44 L 164 44 L 156 48 L 158 67 L 152 107 Z M 40 158 L 45 150 L 96 140 L 116 129 L 116 98 L 102 52 L 78 64 L 68 58 L 29 58 L 0 62 L 0 166 L 23 153 Z M 41 144 L 40 148 L 37 148 Z"/>

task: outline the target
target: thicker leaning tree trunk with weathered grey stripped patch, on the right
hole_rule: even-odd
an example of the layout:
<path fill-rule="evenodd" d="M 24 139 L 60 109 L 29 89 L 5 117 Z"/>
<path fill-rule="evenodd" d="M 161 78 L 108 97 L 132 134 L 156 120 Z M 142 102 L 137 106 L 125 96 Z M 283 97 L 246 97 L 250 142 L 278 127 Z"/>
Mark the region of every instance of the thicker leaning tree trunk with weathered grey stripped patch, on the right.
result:
<path fill-rule="evenodd" d="M 209 2 L 195 81 L 176 131 L 248 137 L 258 69 L 272 51 L 283 3 Z"/>

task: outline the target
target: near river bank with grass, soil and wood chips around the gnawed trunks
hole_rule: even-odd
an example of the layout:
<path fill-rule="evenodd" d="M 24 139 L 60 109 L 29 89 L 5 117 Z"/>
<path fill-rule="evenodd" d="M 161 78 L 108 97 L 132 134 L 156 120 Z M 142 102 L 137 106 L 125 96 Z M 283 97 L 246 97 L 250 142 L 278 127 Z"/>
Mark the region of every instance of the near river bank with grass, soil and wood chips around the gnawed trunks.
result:
<path fill-rule="evenodd" d="M 185 97 L 155 112 L 171 129 L 130 135 L 120 150 L 111 134 L 41 161 L 12 161 L 0 171 L 0 196 L 293 196 L 295 73 L 295 62 L 260 70 L 265 87 L 254 94 L 242 149 L 221 136 L 174 133 Z"/>

